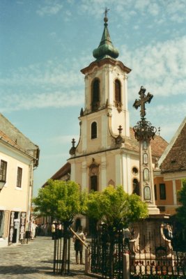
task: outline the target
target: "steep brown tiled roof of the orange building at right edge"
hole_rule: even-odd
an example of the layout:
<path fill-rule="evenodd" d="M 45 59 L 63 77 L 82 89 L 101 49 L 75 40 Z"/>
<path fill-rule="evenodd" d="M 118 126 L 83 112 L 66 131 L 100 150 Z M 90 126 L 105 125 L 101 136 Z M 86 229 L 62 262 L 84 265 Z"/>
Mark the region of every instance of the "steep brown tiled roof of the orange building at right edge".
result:
<path fill-rule="evenodd" d="M 186 170 L 186 117 L 162 154 L 159 163 L 163 173 Z"/>

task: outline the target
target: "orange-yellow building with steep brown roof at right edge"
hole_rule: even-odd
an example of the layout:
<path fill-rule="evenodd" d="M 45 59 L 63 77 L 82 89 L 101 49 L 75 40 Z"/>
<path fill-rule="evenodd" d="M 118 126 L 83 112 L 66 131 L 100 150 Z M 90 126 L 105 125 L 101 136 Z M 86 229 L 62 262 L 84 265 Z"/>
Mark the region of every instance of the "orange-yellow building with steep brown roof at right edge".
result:
<path fill-rule="evenodd" d="M 174 214 L 178 202 L 178 190 L 186 179 L 186 117 L 180 124 L 170 144 L 155 169 L 155 197 L 161 213 Z"/>

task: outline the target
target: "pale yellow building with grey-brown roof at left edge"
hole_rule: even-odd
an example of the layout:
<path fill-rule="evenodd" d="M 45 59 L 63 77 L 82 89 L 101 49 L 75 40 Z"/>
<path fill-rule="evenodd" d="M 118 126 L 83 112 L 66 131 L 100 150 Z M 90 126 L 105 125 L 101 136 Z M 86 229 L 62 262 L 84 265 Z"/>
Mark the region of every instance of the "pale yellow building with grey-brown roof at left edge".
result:
<path fill-rule="evenodd" d="M 24 239 L 38 159 L 38 146 L 0 114 L 0 247 Z"/>

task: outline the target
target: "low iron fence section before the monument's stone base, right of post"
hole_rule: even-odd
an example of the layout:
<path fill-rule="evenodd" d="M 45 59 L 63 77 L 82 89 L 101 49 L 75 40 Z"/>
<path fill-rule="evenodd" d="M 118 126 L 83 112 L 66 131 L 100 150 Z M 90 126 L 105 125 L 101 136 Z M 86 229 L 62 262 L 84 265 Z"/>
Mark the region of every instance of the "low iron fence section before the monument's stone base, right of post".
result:
<path fill-rule="evenodd" d="M 157 241 L 158 237 L 160 241 Z M 185 252 L 173 251 L 172 241 L 169 243 L 167 243 L 167 239 L 162 241 L 161 234 L 158 232 L 139 239 L 138 243 L 138 251 L 132 252 L 130 249 L 131 279 L 161 278 L 160 276 L 186 278 L 186 247 Z M 176 240 L 174 244 L 176 247 Z"/>

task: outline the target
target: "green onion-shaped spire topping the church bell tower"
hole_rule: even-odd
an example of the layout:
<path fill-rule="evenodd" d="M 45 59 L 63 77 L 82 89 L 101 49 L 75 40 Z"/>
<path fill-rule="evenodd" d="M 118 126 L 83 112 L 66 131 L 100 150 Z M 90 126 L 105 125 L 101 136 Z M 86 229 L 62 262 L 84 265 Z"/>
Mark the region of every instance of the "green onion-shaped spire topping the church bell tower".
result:
<path fill-rule="evenodd" d="M 105 15 L 104 31 L 102 33 L 100 45 L 98 48 L 93 50 L 93 56 L 96 58 L 97 61 L 104 59 L 104 58 L 116 59 L 119 55 L 118 50 L 116 50 L 116 47 L 114 47 L 114 45 L 111 43 L 109 30 L 107 28 L 107 26 L 108 26 L 107 22 L 108 22 L 108 18 Z"/>

